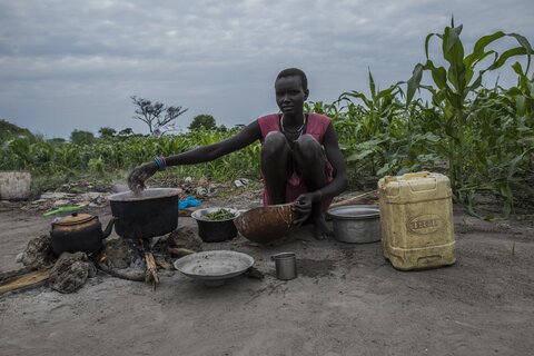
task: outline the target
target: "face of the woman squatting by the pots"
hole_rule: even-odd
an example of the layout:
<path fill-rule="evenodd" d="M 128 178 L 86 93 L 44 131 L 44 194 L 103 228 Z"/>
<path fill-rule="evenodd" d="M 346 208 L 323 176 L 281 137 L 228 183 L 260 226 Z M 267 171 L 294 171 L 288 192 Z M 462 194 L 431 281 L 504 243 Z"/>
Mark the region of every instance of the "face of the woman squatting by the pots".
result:
<path fill-rule="evenodd" d="M 275 82 L 276 103 L 286 116 L 301 115 L 304 101 L 308 98 L 308 90 L 304 90 L 298 76 L 278 78 Z"/>

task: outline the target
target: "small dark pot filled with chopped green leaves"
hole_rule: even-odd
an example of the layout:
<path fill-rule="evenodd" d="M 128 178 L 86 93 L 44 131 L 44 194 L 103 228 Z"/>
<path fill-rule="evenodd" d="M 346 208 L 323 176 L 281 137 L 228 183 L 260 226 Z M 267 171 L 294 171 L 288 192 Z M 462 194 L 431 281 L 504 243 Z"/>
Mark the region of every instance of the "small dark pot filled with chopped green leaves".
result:
<path fill-rule="evenodd" d="M 234 217 L 225 220 L 210 220 L 207 218 L 207 214 L 225 209 L 234 214 Z M 221 243 L 233 239 L 237 236 L 237 228 L 234 224 L 234 219 L 239 216 L 239 210 L 230 208 L 205 208 L 195 210 L 191 214 L 191 218 L 197 220 L 198 236 L 205 243 Z"/>

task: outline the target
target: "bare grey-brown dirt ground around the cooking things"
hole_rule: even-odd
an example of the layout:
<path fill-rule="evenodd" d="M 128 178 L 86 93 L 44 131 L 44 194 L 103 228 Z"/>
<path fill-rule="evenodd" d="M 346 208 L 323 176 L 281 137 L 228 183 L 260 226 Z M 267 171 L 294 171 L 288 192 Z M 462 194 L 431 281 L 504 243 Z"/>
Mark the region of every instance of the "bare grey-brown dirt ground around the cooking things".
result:
<path fill-rule="evenodd" d="M 89 212 L 102 225 L 111 217 Z M 99 271 L 73 294 L 47 285 L 6 294 L 0 355 L 532 355 L 534 215 L 488 222 L 457 206 L 454 215 L 457 261 L 445 268 L 399 271 L 379 243 L 317 241 L 305 227 L 269 246 L 240 236 L 204 244 L 249 254 L 264 279 L 208 288 L 169 271 L 152 290 Z M 20 268 L 17 254 L 50 222 L 0 211 L 0 271 Z M 196 228 L 187 217 L 179 225 Z M 296 253 L 298 278 L 276 279 L 269 257 L 279 251 Z"/>

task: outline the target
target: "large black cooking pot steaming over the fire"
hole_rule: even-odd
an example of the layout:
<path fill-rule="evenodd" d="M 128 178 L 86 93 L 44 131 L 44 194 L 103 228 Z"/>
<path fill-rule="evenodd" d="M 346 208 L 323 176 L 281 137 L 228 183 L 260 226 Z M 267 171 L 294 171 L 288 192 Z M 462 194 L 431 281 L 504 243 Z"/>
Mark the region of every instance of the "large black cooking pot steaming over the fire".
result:
<path fill-rule="evenodd" d="M 174 188 L 152 188 L 109 196 L 111 214 L 117 218 L 115 231 L 136 240 L 172 233 L 178 226 L 179 192 Z"/>

